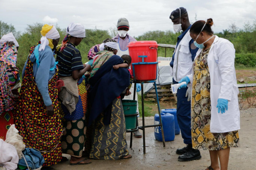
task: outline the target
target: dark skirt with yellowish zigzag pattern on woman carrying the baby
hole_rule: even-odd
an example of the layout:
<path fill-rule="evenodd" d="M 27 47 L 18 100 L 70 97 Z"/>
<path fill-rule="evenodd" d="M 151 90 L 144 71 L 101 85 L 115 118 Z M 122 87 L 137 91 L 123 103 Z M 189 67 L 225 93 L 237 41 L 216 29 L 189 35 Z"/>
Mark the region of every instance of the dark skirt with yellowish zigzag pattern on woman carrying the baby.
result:
<path fill-rule="evenodd" d="M 112 103 L 109 125 L 104 125 L 103 116 L 101 113 L 95 122 L 89 157 L 91 159 L 118 160 L 129 154 L 121 99 L 115 99 Z"/>

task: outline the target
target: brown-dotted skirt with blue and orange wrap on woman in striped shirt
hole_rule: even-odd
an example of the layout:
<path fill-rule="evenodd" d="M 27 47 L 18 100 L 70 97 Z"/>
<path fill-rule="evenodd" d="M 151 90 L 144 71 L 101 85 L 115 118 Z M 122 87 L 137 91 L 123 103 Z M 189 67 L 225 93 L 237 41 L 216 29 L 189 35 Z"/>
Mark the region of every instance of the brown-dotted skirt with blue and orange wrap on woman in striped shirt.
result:
<path fill-rule="evenodd" d="M 76 110 L 71 114 L 67 107 L 61 103 L 61 115 L 63 116 L 63 136 L 61 139 L 62 152 L 75 157 L 81 157 L 83 153 L 84 141 L 86 139 L 86 119 L 87 111 L 87 89 L 85 80 L 78 80 L 79 100 Z"/>

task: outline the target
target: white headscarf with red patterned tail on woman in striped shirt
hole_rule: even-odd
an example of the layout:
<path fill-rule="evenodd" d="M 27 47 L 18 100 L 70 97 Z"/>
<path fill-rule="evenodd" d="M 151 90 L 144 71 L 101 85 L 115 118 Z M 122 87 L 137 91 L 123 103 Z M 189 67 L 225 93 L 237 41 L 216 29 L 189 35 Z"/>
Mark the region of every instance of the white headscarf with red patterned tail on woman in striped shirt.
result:
<path fill-rule="evenodd" d="M 78 37 L 78 38 L 84 38 L 85 36 L 85 28 L 80 23 L 70 23 L 67 28 L 67 35 L 62 41 L 61 49 L 60 51 L 63 51 L 63 49 L 67 46 L 67 42 L 69 41 L 69 37 Z"/>

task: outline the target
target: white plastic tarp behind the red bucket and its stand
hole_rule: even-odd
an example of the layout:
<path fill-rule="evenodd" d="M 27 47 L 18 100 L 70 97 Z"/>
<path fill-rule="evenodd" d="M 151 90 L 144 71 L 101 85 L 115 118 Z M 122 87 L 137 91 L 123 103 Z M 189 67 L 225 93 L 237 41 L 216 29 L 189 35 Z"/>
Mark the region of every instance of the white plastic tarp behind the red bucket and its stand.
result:
<path fill-rule="evenodd" d="M 163 86 L 173 83 L 173 76 L 170 75 L 170 62 L 172 57 L 158 57 L 156 84 Z M 159 76 L 160 75 L 160 76 Z M 144 94 L 147 94 L 154 88 L 154 83 L 145 83 L 143 86 Z"/>

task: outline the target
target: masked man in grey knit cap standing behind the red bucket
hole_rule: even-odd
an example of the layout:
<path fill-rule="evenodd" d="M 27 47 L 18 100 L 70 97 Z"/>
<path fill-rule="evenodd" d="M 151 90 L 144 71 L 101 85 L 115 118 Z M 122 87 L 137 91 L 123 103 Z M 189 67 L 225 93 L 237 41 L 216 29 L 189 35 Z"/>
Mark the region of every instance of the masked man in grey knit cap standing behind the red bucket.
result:
<path fill-rule="evenodd" d="M 116 55 L 122 56 L 122 55 L 129 55 L 129 49 L 127 45 L 129 45 L 129 42 L 137 41 L 135 38 L 131 37 L 128 34 L 130 25 L 129 22 L 126 18 L 119 18 L 117 22 L 117 32 L 118 34 L 113 38 L 117 43 L 118 43 L 118 51 Z M 136 89 L 137 92 L 141 91 L 141 84 L 136 84 Z M 130 92 L 131 94 L 129 96 L 125 96 L 124 99 L 128 100 L 133 100 L 133 91 L 134 91 L 134 84 L 132 85 Z M 135 96 L 135 100 L 138 101 L 137 97 L 137 92 Z M 139 113 L 138 110 L 138 105 L 137 105 L 137 112 Z M 135 138 L 141 138 L 142 135 L 139 131 L 133 132 Z"/>

